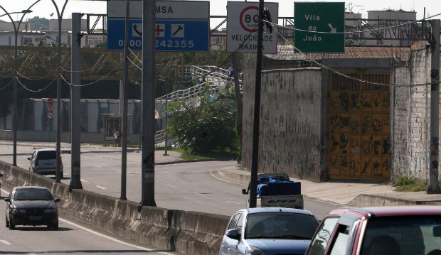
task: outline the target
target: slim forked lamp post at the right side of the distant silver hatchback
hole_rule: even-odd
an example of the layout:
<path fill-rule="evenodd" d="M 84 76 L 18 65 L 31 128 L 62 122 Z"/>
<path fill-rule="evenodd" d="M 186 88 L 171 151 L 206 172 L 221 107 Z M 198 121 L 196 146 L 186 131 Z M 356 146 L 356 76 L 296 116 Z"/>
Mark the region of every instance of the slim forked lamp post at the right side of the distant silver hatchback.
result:
<path fill-rule="evenodd" d="M 57 72 L 57 172 L 55 174 L 55 183 L 61 183 L 60 179 L 63 178 L 61 175 L 61 80 L 60 80 L 60 72 L 61 72 L 61 22 L 63 21 L 63 13 L 66 5 L 69 0 L 66 0 L 63 5 L 63 9 L 58 9 L 55 1 L 52 0 L 53 6 L 57 10 L 58 17 L 58 72 Z M 50 38 L 50 37 L 47 37 Z M 52 38 L 51 38 L 52 39 Z"/>

